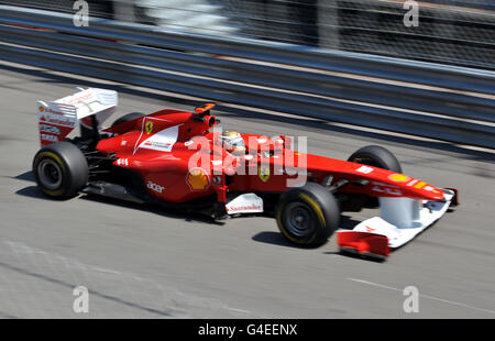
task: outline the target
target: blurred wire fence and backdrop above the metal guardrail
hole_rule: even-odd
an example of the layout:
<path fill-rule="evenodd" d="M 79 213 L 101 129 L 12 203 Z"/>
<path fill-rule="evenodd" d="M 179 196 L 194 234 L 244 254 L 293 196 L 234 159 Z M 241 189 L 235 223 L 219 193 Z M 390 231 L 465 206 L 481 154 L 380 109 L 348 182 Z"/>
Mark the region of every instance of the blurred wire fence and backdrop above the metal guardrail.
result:
<path fill-rule="evenodd" d="M 419 26 L 402 0 L 88 0 L 90 16 L 215 36 L 244 36 L 495 69 L 495 1 L 418 1 Z M 74 13 L 72 0 L 0 4 Z"/>

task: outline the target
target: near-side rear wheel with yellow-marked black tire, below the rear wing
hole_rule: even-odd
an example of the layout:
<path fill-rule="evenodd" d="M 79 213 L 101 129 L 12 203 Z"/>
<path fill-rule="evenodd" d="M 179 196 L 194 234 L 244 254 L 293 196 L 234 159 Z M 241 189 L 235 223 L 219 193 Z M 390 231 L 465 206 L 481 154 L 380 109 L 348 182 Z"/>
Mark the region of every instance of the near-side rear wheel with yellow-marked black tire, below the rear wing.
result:
<path fill-rule="evenodd" d="M 77 146 L 62 141 L 36 153 L 33 174 L 37 186 L 46 196 L 70 198 L 88 182 L 88 162 Z"/>

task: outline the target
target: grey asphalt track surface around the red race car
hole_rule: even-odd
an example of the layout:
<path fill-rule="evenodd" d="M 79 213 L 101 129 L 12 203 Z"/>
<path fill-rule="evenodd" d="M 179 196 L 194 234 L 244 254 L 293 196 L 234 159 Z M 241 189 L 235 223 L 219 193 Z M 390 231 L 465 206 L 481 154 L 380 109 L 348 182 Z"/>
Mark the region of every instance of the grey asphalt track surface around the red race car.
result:
<path fill-rule="evenodd" d="M 294 246 L 270 218 L 222 224 L 95 197 L 45 198 L 31 174 L 35 102 L 76 86 L 117 89 L 114 118 L 200 102 L 0 66 L 0 318 L 495 318 L 490 151 L 220 106 L 224 128 L 306 135 L 310 153 L 336 158 L 380 144 L 405 174 L 460 189 L 462 206 L 377 263 L 339 254 L 334 237 Z M 344 226 L 374 213 L 345 215 Z M 77 286 L 89 289 L 88 314 L 73 310 Z M 417 314 L 404 311 L 408 286 L 419 292 Z"/>

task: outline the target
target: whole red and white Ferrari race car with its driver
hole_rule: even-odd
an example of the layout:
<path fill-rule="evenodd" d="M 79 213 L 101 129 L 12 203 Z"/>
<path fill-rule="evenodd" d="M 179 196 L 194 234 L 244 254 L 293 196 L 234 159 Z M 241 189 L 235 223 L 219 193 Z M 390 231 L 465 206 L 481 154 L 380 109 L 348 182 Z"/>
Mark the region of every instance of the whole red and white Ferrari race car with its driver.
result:
<path fill-rule="evenodd" d="M 103 129 L 117 102 L 116 91 L 98 88 L 37 102 L 42 148 L 33 174 L 45 195 L 101 195 L 213 219 L 265 212 L 293 243 L 318 246 L 337 231 L 342 251 L 378 257 L 458 205 L 455 189 L 402 174 L 381 146 L 348 161 L 297 152 L 290 136 L 221 130 L 215 103 L 133 112 Z M 77 125 L 80 135 L 67 138 Z M 339 229 L 342 211 L 370 207 L 381 217 Z"/>

